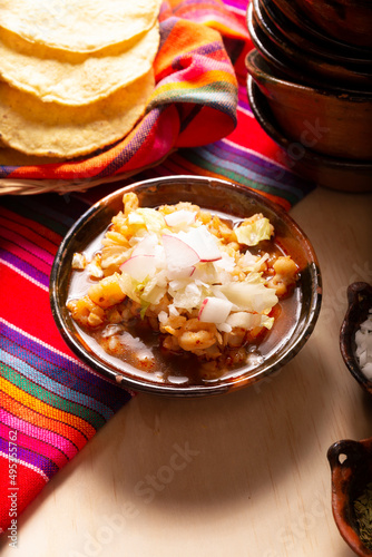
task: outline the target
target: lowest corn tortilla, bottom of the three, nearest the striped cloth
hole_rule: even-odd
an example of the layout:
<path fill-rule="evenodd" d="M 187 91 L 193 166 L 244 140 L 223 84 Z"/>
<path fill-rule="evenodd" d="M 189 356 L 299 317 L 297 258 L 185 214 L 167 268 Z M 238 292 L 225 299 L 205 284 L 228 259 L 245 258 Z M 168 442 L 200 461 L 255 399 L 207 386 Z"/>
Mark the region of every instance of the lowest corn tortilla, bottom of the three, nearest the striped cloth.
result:
<path fill-rule="evenodd" d="M 74 158 L 126 136 L 144 115 L 154 70 L 109 97 L 82 107 L 42 102 L 0 82 L 0 139 L 27 155 Z"/>

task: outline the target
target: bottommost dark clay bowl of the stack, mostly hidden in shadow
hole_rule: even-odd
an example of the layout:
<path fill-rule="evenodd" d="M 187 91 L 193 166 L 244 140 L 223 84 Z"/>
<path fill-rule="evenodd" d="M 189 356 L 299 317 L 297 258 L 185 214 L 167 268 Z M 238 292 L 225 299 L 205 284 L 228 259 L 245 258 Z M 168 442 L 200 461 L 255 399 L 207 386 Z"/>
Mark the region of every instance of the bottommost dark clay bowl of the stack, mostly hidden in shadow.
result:
<path fill-rule="evenodd" d="M 339 159 L 320 155 L 300 141 L 293 141 L 281 129 L 253 78 L 247 79 L 252 110 L 266 134 L 277 144 L 278 173 L 281 164 L 303 178 L 331 189 L 362 193 L 372 190 L 372 163 Z"/>

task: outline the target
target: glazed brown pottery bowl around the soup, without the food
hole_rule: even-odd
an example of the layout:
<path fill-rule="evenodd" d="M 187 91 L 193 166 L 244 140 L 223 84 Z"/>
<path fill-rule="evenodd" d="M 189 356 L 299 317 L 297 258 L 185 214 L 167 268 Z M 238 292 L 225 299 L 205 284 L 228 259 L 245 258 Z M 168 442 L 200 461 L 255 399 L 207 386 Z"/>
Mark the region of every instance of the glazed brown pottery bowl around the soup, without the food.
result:
<path fill-rule="evenodd" d="M 134 192 L 140 207 L 157 207 L 180 201 L 192 202 L 212 213 L 223 213 L 228 218 L 241 219 L 255 213 L 266 216 L 275 228 L 275 241 L 284 253 L 292 255 L 298 265 L 300 280 L 294 293 L 281 301 L 282 311 L 275 326 L 260 344 L 260 361 L 231 370 L 216 380 L 194 381 L 182 377 L 158 377 L 159 373 L 138 373 L 121 361 L 109 361 L 87 342 L 86 335 L 72 321 L 66 302 L 74 281 L 71 261 L 76 252 L 89 250 L 102 235 L 112 216 L 123 209 L 123 195 Z M 196 176 L 170 176 L 139 182 L 118 189 L 94 205 L 72 226 L 63 238 L 52 265 L 50 304 L 60 333 L 71 350 L 96 372 L 118 385 L 135 391 L 147 391 L 172 397 L 202 397 L 218 394 L 252 385 L 271 375 L 288 362 L 309 339 L 321 305 L 321 276 L 316 255 L 306 235 L 288 214 L 254 190 L 226 180 Z M 157 370 L 160 372 L 160 370 Z"/>

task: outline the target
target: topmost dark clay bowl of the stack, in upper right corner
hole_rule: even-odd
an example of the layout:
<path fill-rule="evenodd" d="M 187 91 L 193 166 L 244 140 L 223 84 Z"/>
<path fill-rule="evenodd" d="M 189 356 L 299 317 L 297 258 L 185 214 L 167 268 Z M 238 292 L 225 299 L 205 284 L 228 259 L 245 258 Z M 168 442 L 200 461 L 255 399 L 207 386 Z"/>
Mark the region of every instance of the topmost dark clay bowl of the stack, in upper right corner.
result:
<path fill-rule="evenodd" d="M 296 0 L 324 32 L 335 39 L 372 49 L 370 0 Z"/>

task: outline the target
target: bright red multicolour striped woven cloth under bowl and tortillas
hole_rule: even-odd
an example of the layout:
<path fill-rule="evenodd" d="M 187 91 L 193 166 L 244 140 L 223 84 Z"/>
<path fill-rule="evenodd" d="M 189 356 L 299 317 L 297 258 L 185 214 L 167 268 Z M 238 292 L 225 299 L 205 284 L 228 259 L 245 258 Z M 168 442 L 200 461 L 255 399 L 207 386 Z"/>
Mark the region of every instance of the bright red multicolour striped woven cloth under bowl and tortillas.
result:
<path fill-rule="evenodd" d="M 246 99 L 247 0 L 173 0 L 161 10 L 157 89 L 123 143 L 84 163 L 0 167 L 2 177 L 173 174 L 229 178 L 286 209 L 311 184 L 285 169 Z M 137 165 L 137 166 L 136 166 Z M 124 182 L 121 185 L 124 185 Z M 72 223 L 115 187 L 0 197 L 0 529 L 82 449 L 131 394 L 95 374 L 62 341 L 49 307 L 53 255 Z M 1 531 L 1 530 L 0 530 Z"/>

